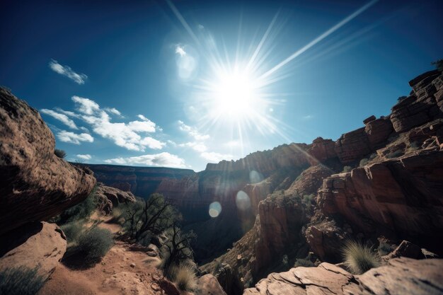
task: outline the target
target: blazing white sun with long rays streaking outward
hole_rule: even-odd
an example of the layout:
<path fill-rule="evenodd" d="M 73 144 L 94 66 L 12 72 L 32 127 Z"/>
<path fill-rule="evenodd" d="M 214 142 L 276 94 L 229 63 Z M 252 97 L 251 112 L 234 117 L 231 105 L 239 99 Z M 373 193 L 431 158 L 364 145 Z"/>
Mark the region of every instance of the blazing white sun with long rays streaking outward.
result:
<path fill-rule="evenodd" d="M 223 37 L 214 37 L 202 25 L 198 26 L 197 31 L 192 30 L 178 8 L 166 0 L 190 35 L 191 46 L 198 52 L 200 63 L 203 64 L 195 79 L 187 81 L 192 85 L 192 95 L 188 103 L 198 115 L 199 127 L 220 130 L 218 133 L 222 132 L 226 141 L 239 141 L 242 153 L 243 146 L 248 143 L 248 134 L 251 134 L 248 131 L 251 130 L 263 136 L 278 135 L 284 141 L 292 141 L 286 132 L 294 127 L 285 125 L 274 112 L 279 105 L 284 106 L 285 103 L 285 98 L 276 85 L 291 76 L 291 68 L 287 64 L 367 11 L 377 1 L 364 4 L 279 62 L 272 50 L 275 50 L 273 41 L 282 28 L 280 11 L 275 13 L 260 37 L 243 36 L 245 33 L 240 23 L 238 36 L 232 36 L 229 42 L 225 42 Z M 229 47 L 235 39 L 234 48 Z M 244 44 L 245 40 L 249 40 L 246 41 L 248 44 Z M 184 51 L 179 53 L 180 57 L 184 57 Z"/>

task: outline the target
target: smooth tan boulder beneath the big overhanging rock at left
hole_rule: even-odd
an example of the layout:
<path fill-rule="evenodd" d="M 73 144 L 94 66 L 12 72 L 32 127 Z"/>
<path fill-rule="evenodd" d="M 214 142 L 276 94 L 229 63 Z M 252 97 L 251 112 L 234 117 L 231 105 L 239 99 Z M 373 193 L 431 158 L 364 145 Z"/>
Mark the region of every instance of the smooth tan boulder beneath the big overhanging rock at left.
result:
<path fill-rule="evenodd" d="M 62 259 L 66 247 L 66 237 L 57 224 L 27 224 L 4 236 L 0 244 L 0 270 L 20 266 L 33 270 L 38 267 L 38 274 L 47 279 Z"/>

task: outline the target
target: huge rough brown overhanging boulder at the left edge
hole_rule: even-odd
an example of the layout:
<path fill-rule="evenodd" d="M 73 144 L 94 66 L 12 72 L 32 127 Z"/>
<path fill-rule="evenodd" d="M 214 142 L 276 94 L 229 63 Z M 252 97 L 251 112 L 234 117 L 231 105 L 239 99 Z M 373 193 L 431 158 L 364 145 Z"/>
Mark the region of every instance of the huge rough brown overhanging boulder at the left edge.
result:
<path fill-rule="evenodd" d="M 0 235 L 49 219 L 85 199 L 90 170 L 54 154 L 55 139 L 38 111 L 0 89 Z"/>

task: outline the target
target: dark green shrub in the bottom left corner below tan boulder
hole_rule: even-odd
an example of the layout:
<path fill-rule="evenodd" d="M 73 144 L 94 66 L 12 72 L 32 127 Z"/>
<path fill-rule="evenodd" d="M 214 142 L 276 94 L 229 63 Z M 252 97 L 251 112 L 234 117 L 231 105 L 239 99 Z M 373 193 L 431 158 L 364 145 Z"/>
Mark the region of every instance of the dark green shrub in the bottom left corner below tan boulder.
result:
<path fill-rule="evenodd" d="M 38 269 L 11 267 L 0 271 L 0 294 L 35 295 L 43 287 L 45 280 Z"/>

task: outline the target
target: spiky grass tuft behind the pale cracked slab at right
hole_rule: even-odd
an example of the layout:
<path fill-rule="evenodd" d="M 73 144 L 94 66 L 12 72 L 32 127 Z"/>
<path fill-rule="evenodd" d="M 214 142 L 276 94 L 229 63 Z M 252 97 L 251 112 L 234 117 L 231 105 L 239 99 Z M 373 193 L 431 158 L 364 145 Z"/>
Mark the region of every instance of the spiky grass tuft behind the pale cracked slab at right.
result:
<path fill-rule="evenodd" d="M 363 274 L 380 265 L 380 258 L 369 245 L 356 241 L 347 241 L 343 248 L 345 266 L 352 274 Z"/>

